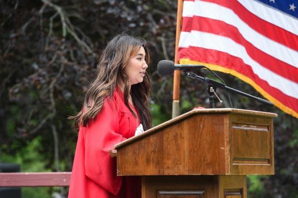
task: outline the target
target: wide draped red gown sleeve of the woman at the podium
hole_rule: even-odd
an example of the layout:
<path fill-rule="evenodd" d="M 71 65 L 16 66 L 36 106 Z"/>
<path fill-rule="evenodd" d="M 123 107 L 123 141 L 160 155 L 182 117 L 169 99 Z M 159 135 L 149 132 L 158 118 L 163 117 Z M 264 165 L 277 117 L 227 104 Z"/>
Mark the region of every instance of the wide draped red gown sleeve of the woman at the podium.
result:
<path fill-rule="evenodd" d="M 116 100 L 105 99 L 102 110 L 85 129 L 85 175 L 108 192 L 117 195 L 122 178 L 116 175 L 116 158 L 109 150 L 126 138 L 119 134 Z"/>

